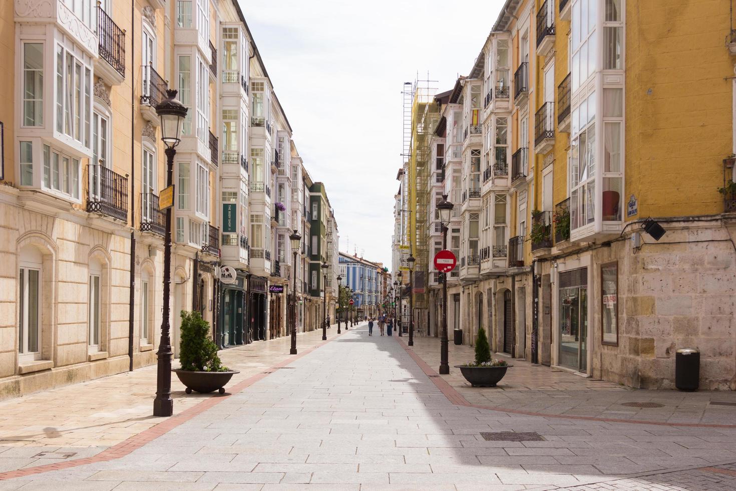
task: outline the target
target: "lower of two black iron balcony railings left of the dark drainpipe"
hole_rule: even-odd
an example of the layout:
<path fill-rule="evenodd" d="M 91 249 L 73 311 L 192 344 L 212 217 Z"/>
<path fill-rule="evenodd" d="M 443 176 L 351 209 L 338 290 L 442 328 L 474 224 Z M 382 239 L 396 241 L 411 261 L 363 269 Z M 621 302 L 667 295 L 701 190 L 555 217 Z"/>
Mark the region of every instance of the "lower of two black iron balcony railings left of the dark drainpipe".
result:
<path fill-rule="evenodd" d="M 87 211 L 128 219 L 128 179 L 99 164 L 87 166 Z"/>

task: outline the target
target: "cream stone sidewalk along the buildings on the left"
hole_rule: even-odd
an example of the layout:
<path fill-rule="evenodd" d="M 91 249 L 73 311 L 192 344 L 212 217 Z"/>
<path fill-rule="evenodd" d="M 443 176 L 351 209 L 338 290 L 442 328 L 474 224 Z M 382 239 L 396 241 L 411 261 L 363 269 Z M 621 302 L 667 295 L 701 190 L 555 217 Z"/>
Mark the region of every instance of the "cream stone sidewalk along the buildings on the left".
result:
<path fill-rule="evenodd" d="M 336 325 L 327 332 L 328 339 L 336 336 Z M 321 343 L 321 329 L 297 336 L 300 352 Z M 227 367 L 240 370 L 229 386 L 289 359 L 290 346 L 291 338 L 284 336 L 220 351 Z M 178 360 L 172 365 L 177 367 Z M 0 473 L 93 456 L 141 434 L 163 421 L 152 416 L 155 392 L 152 365 L 0 402 Z M 172 374 L 174 415 L 211 397 L 185 395 Z"/>

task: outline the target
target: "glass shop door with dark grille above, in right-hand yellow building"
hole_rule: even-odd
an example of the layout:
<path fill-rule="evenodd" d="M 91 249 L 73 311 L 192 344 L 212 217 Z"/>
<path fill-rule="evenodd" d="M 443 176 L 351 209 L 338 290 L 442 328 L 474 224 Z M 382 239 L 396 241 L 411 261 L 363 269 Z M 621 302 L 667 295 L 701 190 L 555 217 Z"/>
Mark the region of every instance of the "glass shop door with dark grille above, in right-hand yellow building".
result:
<path fill-rule="evenodd" d="M 587 370 L 587 268 L 559 274 L 559 364 Z"/>

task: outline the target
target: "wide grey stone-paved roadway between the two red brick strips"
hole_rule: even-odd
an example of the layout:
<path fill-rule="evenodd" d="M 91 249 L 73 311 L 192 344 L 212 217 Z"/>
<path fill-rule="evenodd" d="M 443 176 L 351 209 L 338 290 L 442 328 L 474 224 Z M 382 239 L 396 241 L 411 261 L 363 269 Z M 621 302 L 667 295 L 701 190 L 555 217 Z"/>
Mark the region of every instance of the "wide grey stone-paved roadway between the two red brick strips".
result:
<path fill-rule="evenodd" d="M 486 441 L 481 432 L 537 432 Z M 0 490 L 724 490 L 736 428 L 455 405 L 395 338 L 363 327 L 119 459 Z"/>

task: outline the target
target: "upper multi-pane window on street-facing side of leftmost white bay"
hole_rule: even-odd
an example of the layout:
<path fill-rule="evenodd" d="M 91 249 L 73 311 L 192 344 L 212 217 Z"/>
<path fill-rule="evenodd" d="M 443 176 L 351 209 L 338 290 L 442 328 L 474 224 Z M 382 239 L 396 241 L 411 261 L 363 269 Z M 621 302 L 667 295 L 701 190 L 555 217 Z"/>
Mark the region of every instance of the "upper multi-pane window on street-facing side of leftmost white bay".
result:
<path fill-rule="evenodd" d="M 60 45 L 56 47 L 56 130 L 90 146 L 92 71 Z"/>

